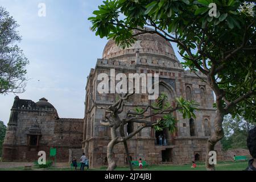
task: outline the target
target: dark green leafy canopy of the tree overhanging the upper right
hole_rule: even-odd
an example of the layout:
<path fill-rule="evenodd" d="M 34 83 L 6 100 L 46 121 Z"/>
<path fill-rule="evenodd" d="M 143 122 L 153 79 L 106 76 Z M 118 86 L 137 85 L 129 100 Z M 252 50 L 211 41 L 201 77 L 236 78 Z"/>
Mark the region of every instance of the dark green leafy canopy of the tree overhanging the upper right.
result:
<path fill-rule="evenodd" d="M 216 16 L 209 16 L 210 3 L 217 5 Z M 254 4 L 238 0 L 113 0 L 104 1 L 89 20 L 96 35 L 123 48 L 146 33 L 177 43 L 184 67 L 208 76 L 220 98 L 217 109 L 255 122 L 253 11 Z"/>

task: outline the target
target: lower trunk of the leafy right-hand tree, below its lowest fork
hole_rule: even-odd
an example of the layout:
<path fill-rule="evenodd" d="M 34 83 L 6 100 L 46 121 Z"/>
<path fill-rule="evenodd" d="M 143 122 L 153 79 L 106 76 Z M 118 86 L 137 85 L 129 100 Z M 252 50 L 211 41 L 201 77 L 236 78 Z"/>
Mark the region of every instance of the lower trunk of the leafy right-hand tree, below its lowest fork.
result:
<path fill-rule="evenodd" d="M 215 170 L 214 164 L 212 165 L 209 164 L 210 156 L 208 154 L 210 151 L 214 151 L 215 144 L 224 137 L 224 131 L 222 129 L 223 119 L 224 119 L 224 114 L 221 113 L 220 111 L 217 111 L 216 117 L 214 119 L 214 134 L 207 141 L 207 155 L 205 158 L 205 166 L 207 168 L 207 171 Z"/>

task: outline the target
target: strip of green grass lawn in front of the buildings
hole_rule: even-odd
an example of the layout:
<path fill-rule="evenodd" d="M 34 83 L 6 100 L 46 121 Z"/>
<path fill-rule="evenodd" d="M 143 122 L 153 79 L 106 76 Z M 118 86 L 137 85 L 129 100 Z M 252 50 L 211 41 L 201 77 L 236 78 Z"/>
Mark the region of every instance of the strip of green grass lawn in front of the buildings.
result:
<path fill-rule="evenodd" d="M 218 162 L 216 165 L 217 171 L 242 171 L 247 167 L 247 162 Z M 38 167 L 32 167 L 32 171 L 73 171 L 71 168 L 55 168 L 50 167 L 47 169 L 39 169 Z M 94 168 L 89 171 L 105 171 L 106 168 Z M 117 171 L 129 171 L 127 167 L 118 167 Z M 0 169 L 0 171 L 24 171 L 24 167 Z M 135 171 L 205 171 L 204 163 L 198 163 L 196 168 L 191 168 L 191 164 L 185 165 L 158 165 L 148 166 L 143 169 L 135 167 Z"/>

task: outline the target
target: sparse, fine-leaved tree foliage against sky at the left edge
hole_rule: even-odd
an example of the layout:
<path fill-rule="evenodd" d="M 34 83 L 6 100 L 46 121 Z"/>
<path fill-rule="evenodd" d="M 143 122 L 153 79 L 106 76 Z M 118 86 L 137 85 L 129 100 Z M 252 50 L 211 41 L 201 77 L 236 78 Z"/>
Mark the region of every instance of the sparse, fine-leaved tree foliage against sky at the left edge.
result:
<path fill-rule="evenodd" d="M 26 86 L 27 58 L 16 45 L 21 37 L 19 25 L 0 6 L 0 94 L 23 93 Z"/>

